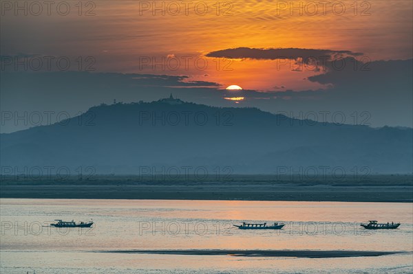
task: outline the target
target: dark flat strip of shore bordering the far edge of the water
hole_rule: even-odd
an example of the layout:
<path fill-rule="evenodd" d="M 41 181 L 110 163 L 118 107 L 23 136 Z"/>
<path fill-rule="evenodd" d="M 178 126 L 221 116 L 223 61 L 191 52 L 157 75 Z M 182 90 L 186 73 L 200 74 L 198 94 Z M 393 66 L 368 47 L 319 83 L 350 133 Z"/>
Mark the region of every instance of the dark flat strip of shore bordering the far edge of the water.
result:
<path fill-rule="evenodd" d="M 0 185 L 0 198 L 331 201 L 413 203 L 410 185 L 295 185 L 274 183 L 18 184 Z"/>

